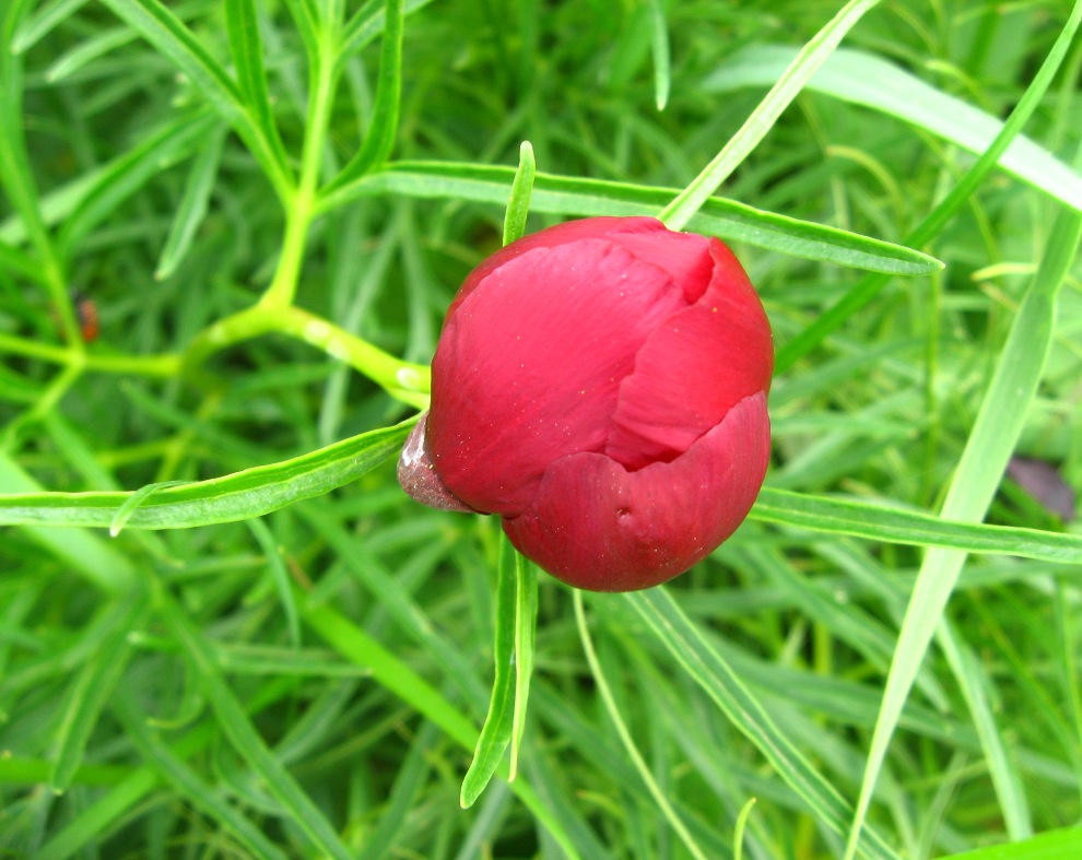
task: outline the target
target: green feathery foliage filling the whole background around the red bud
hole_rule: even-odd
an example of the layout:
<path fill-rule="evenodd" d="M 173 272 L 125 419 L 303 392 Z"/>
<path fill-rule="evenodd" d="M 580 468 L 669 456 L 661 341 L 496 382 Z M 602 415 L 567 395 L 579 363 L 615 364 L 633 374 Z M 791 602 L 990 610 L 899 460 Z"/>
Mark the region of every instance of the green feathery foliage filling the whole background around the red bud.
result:
<path fill-rule="evenodd" d="M 0 2 L 0 855 L 1082 856 L 1080 23 Z M 584 596 L 393 461 L 473 266 L 644 214 L 773 462 Z"/>

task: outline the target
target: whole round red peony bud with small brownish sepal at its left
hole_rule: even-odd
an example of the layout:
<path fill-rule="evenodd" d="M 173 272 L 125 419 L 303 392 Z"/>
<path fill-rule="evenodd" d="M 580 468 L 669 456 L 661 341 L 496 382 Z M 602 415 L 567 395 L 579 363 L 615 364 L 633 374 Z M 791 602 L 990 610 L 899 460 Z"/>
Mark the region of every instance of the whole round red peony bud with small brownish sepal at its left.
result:
<path fill-rule="evenodd" d="M 503 518 L 592 591 L 683 573 L 748 516 L 769 459 L 771 326 L 732 252 L 650 217 L 595 217 L 466 279 L 399 480 Z"/>

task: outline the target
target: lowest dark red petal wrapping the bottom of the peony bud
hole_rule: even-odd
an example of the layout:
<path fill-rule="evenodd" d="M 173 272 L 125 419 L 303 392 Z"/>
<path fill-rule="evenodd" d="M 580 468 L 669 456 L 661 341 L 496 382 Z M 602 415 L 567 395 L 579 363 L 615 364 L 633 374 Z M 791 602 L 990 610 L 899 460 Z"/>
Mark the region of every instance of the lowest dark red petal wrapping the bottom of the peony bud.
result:
<path fill-rule="evenodd" d="M 671 462 L 636 472 L 600 453 L 554 462 L 531 509 L 505 519 L 504 531 L 524 555 L 578 588 L 649 588 L 704 558 L 743 521 L 769 450 L 760 392 Z"/>

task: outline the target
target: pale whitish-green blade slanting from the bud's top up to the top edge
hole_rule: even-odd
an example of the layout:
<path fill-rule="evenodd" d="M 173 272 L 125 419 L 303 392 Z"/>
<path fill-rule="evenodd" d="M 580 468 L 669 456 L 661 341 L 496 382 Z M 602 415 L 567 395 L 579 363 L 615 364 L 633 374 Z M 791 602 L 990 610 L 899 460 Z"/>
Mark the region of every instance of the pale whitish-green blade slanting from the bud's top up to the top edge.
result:
<path fill-rule="evenodd" d="M 714 161 L 691 185 L 681 191 L 658 215 L 669 229 L 683 229 L 709 197 L 729 175 L 740 166 L 766 133 L 774 128 L 778 117 L 799 95 L 804 84 L 826 62 L 845 34 L 879 0 L 849 0 L 834 19 L 800 49 L 800 52 L 771 87 L 762 102 L 748 117 L 729 142 L 721 148 Z"/>

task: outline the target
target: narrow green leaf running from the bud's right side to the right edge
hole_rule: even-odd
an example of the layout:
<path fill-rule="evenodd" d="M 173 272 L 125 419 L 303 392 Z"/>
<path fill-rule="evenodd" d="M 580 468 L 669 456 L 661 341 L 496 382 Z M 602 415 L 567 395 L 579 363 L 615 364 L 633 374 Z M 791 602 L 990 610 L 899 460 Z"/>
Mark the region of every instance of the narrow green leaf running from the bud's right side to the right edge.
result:
<path fill-rule="evenodd" d="M 997 475 L 1002 475 L 1002 472 Z M 1062 564 L 1082 563 L 1080 534 L 975 525 L 915 510 L 772 487 L 763 488 L 750 516 L 764 522 L 849 534 L 871 541 L 952 547 L 972 553 L 1001 553 Z"/>

